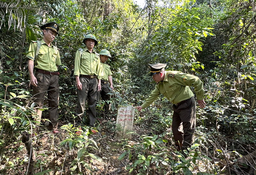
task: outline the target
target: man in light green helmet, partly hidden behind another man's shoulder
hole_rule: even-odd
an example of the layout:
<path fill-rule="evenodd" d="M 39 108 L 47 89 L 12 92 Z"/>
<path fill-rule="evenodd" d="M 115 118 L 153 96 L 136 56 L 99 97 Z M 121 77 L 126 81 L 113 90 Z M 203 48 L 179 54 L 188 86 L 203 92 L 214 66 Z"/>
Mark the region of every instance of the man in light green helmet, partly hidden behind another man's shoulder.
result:
<path fill-rule="evenodd" d="M 101 90 L 98 92 L 98 100 L 100 100 L 100 96 L 102 100 L 106 101 L 104 104 L 105 113 L 108 113 L 110 110 L 110 95 L 108 94 L 110 90 L 113 91 L 113 83 L 112 83 L 112 72 L 110 71 L 110 67 L 106 64 L 108 58 L 111 58 L 110 52 L 106 49 L 100 50 L 100 76 L 102 77 L 101 82 Z M 109 84 L 108 84 L 109 82 Z M 109 87 L 110 85 L 110 87 Z"/>

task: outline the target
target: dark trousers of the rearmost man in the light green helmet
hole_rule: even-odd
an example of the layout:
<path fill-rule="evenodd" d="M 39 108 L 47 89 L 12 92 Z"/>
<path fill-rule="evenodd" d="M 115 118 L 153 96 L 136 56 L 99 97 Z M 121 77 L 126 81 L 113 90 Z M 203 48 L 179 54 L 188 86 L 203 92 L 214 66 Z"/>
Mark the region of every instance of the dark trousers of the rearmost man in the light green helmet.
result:
<path fill-rule="evenodd" d="M 101 96 L 102 100 L 106 102 L 104 104 L 105 112 L 109 112 L 111 107 L 111 103 L 109 102 L 110 95 L 108 95 L 108 93 L 111 91 L 110 89 L 111 88 L 109 87 L 109 84 L 108 83 L 104 84 L 104 82 L 101 80 L 101 90 L 97 92 L 97 100 L 99 101 Z"/>

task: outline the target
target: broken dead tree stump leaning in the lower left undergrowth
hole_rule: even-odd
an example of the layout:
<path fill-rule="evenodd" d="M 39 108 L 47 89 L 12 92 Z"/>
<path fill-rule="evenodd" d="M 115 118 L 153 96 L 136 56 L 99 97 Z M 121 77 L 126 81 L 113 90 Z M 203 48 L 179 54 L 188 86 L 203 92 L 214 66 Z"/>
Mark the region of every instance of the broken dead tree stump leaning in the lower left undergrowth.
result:
<path fill-rule="evenodd" d="M 35 154 L 32 144 L 31 144 L 30 134 L 27 133 L 26 131 L 24 131 L 22 134 L 21 141 L 22 141 L 22 143 L 25 144 L 25 147 L 28 151 L 28 157 L 30 160 L 29 164 L 28 164 L 28 174 L 32 175 L 33 171 L 34 171 L 34 166 L 36 163 L 36 154 Z"/>

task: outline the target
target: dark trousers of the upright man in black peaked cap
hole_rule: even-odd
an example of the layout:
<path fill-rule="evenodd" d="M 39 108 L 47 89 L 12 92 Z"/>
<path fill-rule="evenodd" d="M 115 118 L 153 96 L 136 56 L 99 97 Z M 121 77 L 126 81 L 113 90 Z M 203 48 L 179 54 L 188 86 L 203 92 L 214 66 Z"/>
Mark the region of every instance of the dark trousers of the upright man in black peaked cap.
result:
<path fill-rule="evenodd" d="M 48 104 L 49 104 L 49 119 L 51 123 L 49 124 L 49 129 L 57 129 L 58 127 L 58 106 L 59 106 L 59 76 L 49 75 L 41 72 L 36 72 L 35 74 L 37 80 L 37 87 L 33 86 L 33 98 L 34 103 L 36 103 L 36 113 L 38 117 L 35 118 L 36 121 L 41 121 L 42 110 L 44 105 L 44 96 L 47 92 L 48 94 Z"/>

